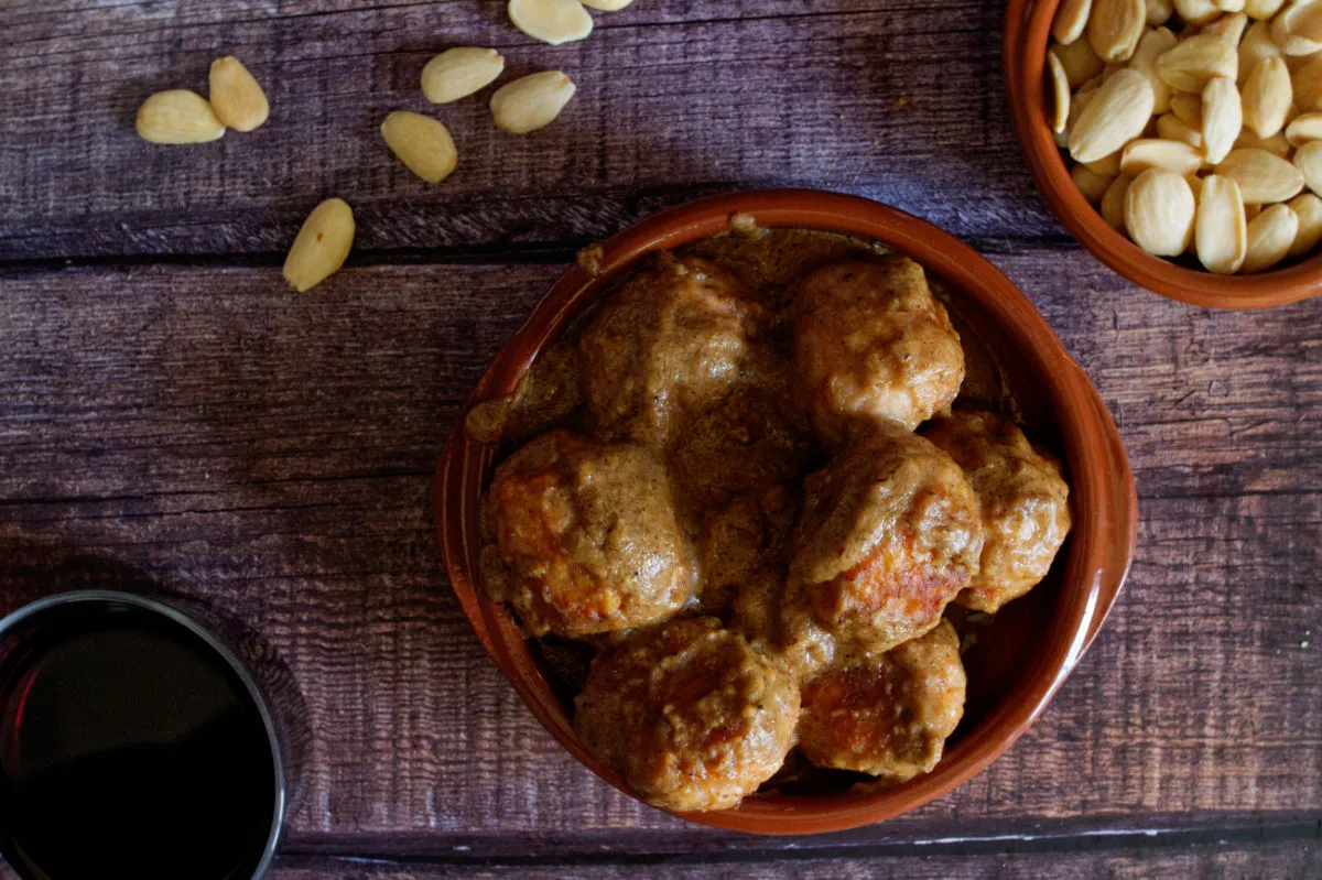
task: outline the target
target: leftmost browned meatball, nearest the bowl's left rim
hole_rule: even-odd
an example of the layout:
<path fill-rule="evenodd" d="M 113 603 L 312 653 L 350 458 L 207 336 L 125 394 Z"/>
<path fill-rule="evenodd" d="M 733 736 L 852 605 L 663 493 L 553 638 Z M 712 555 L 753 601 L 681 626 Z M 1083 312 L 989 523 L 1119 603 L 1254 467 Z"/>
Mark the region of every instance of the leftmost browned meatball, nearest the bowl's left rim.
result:
<path fill-rule="evenodd" d="M 496 469 L 483 580 L 534 636 L 654 624 L 693 599 L 695 554 L 660 456 L 553 431 Z"/>

